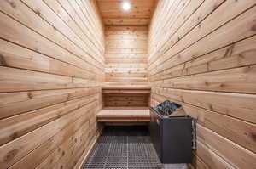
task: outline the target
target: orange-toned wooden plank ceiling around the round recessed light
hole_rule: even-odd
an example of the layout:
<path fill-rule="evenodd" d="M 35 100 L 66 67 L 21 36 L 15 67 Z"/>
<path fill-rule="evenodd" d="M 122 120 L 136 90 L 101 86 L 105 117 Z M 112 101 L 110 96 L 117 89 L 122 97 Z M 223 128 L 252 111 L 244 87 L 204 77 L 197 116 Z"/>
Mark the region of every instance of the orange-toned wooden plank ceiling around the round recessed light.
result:
<path fill-rule="evenodd" d="M 122 4 L 131 3 L 124 11 Z M 154 12 L 156 0 L 96 0 L 105 25 L 148 25 Z"/>

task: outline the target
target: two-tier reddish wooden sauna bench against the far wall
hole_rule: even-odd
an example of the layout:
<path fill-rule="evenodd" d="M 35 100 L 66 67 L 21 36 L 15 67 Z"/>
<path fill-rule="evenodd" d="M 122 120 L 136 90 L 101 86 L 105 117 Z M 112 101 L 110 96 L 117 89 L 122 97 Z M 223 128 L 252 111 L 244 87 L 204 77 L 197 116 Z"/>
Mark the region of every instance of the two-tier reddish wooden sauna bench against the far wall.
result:
<path fill-rule="evenodd" d="M 102 87 L 104 108 L 96 115 L 97 121 L 148 122 L 150 87 L 146 86 L 105 86 Z"/>

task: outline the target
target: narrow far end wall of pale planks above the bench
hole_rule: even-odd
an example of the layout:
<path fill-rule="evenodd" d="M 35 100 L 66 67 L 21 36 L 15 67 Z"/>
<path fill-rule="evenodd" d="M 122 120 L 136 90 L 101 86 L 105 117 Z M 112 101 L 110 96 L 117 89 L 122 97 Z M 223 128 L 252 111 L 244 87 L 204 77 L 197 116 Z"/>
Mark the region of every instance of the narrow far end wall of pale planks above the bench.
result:
<path fill-rule="evenodd" d="M 106 26 L 106 84 L 148 84 L 147 26 Z"/>

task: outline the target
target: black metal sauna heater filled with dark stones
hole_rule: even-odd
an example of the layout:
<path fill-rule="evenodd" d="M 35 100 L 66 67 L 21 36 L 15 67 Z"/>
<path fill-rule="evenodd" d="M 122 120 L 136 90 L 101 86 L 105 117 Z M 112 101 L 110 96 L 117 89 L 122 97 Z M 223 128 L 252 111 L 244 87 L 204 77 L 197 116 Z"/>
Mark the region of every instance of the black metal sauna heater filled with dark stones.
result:
<path fill-rule="evenodd" d="M 193 119 L 185 115 L 182 105 L 169 100 L 150 108 L 150 137 L 162 163 L 192 162 L 192 149 L 195 148 L 193 123 Z"/>

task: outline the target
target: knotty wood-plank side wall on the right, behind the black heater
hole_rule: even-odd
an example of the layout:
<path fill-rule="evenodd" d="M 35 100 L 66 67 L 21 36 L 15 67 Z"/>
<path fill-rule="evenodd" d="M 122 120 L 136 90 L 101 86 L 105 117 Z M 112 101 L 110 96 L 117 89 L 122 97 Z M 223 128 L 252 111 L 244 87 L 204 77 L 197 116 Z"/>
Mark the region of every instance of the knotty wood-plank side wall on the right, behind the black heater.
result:
<path fill-rule="evenodd" d="M 160 0 L 149 31 L 151 104 L 198 119 L 195 168 L 256 168 L 255 0 Z"/>

